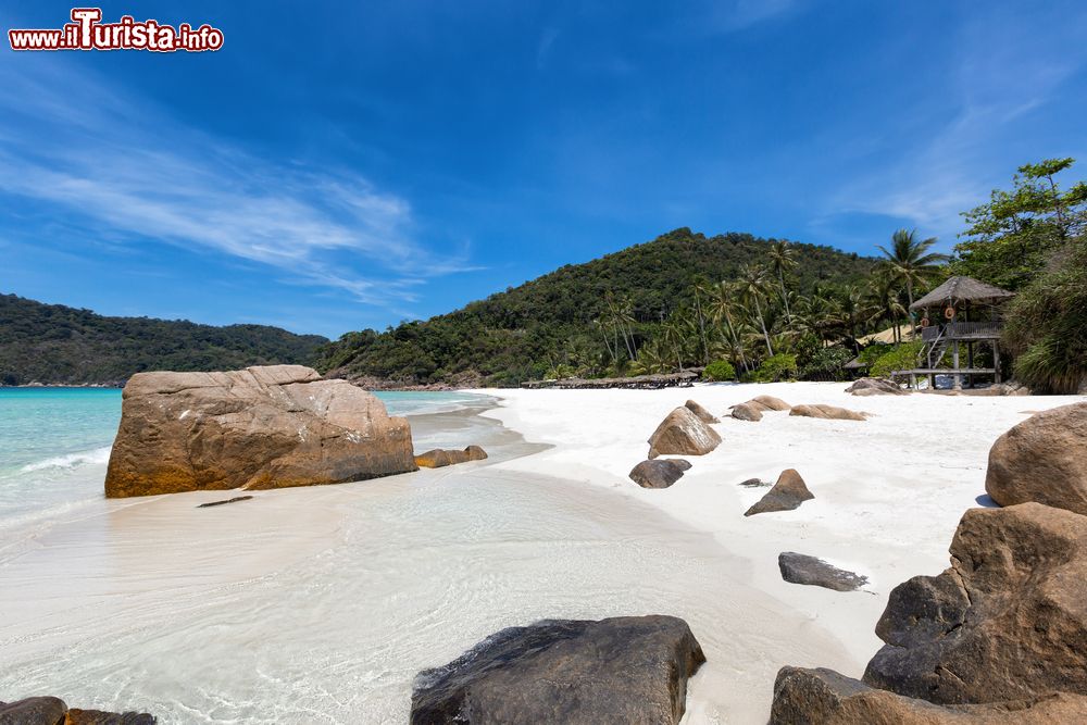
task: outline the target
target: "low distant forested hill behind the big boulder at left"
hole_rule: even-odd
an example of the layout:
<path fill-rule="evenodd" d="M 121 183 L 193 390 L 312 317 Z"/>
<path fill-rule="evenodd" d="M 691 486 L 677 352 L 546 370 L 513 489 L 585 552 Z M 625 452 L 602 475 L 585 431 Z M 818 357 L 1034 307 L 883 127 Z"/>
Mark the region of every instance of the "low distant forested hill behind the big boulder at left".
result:
<path fill-rule="evenodd" d="M 0 295 L 0 385 L 124 383 L 148 370 L 213 371 L 311 364 L 328 340 L 265 325 L 105 317 Z"/>

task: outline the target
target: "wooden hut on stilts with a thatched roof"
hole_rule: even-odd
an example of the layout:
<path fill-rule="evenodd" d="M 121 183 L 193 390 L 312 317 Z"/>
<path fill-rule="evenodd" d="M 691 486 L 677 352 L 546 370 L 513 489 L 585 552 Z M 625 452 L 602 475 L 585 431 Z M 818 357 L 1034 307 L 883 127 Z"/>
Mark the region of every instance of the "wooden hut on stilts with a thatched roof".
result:
<path fill-rule="evenodd" d="M 974 387 L 978 376 L 1000 383 L 1000 308 L 1013 297 L 972 277 L 951 277 L 910 305 L 910 312 L 922 311 L 921 339 L 924 342 L 916 367 L 895 371 L 891 377 L 909 377 L 910 387 L 917 387 L 917 377 L 928 378 L 929 389 L 936 388 L 937 375 L 951 375 L 955 390 Z M 975 346 L 991 348 L 991 366 L 975 367 Z M 951 366 L 945 358 L 951 353 Z M 965 361 L 963 357 L 965 353 Z M 965 362 L 965 367 L 962 363 Z"/>

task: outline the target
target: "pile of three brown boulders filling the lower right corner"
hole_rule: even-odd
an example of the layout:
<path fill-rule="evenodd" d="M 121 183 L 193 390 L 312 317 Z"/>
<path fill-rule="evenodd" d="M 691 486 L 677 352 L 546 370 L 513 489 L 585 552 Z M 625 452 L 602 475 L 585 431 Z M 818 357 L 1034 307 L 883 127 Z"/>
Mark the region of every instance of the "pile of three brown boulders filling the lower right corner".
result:
<path fill-rule="evenodd" d="M 951 566 L 891 591 L 863 678 L 784 667 L 771 723 L 1087 722 L 1087 403 L 1001 436 L 986 491 L 1005 508 L 967 511 Z"/>

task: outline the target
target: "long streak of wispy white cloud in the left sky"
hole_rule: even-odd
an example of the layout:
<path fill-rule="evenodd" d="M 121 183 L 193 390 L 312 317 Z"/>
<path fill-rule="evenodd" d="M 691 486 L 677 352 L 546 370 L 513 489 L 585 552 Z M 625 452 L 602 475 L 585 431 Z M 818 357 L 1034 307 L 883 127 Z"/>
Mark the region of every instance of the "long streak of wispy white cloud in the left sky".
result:
<path fill-rule="evenodd" d="M 33 60 L 49 62 L 0 70 L 0 192 L 389 309 L 426 278 L 470 268 L 421 245 L 411 204 L 364 176 L 265 161 L 84 71 Z"/>

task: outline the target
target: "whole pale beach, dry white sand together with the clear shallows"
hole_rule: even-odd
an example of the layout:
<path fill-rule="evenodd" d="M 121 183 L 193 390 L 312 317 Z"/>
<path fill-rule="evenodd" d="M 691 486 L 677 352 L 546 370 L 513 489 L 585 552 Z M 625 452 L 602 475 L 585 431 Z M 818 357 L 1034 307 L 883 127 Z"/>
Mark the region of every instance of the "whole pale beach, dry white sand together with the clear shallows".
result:
<path fill-rule="evenodd" d="M 1072 400 L 852 398 L 844 387 L 501 391 L 487 415 L 554 448 L 449 416 L 416 427 L 420 448 L 472 440 L 493 458 L 217 509 L 193 507 L 222 492 L 103 500 L 8 533 L 0 699 L 53 693 L 162 723 L 402 723 L 416 672 L 499 628 L 667 613 L 709 658 L 685 722 L 764 723 L 783 664 L 861 673 L 889 590 L 945 567 L 960 515 L 984 492 L 991 441 L 1024 411 Z M 672 488 L 627 479 L 688 397 L 724 414 L 759 393 L 876 415 L 725 420 L 724 443 L 691 458 Z M 745 518 L 765 489 L 737 484 L 785 467 L 815 500 Z M 784 550 L 872 584 L 785 584 Z"/>

